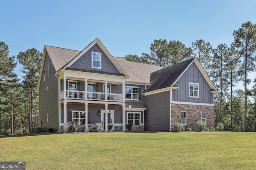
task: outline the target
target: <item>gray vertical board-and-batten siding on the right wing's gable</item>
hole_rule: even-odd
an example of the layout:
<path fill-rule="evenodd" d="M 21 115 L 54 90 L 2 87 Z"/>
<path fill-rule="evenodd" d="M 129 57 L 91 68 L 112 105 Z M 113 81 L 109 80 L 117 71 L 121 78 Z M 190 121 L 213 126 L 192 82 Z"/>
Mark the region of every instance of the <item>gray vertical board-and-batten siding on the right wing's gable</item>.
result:
<path fill-rule="evenodd" d="M 189 97 L 189 82 L 199 83 L 199 98 Z M 180 79 L 175 83 L 178 89 L 172 90 L 172 101 L 195 102 L 213 104 L 213 93 L 210 93 L 210 86 L 195 63 L 184 72 Z"/>

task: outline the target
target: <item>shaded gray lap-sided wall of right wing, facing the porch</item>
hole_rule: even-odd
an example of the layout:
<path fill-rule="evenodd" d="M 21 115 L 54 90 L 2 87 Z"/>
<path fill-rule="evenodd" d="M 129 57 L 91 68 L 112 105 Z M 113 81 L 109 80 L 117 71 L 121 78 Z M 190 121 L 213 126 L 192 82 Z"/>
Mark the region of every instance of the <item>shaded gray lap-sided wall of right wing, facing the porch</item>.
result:
<path fill-rule="evenodd" d="M 144 97 L 148 108 L 145 113 L 145 130 L 170 130 L 170 92 L 162 92 Z"/>

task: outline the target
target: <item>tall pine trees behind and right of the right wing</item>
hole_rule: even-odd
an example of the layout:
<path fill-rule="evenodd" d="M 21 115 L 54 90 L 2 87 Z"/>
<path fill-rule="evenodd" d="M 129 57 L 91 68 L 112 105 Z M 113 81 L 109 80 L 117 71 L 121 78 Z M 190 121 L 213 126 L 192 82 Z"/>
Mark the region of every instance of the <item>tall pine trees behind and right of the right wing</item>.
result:
<path fill-rule="evenodd" d="M 186 47 L 180 41 L 155 39 L 150 54 L 123 58 L 165 68 L 197 57 L 219 90 L 215 96 L 215 124 L 223 123 L 229 131 L 256 131 L 256 85 L 247 88 L 251 82 L 248 73 L 256 71 L 256 24 L 243 23 L 233 36 L 230 46 L 220 44 L 215 49 L 203 39 L 193 42 L 192 47 Z M 244 82 L 244 90 L 238 88 L 239 81 Z M 248 96 L 254 101 L 248 100 Z"/>

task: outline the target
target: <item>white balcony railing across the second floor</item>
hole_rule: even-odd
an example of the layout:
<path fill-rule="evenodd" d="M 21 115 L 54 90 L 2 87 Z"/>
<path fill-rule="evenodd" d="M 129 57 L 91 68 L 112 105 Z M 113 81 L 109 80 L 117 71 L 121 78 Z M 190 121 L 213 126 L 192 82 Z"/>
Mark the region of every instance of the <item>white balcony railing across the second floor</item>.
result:
<path fill-rule="evenodd" d="M 105 99 L 106 94 L 103 92 L 84 92 L 75 90 L 62 90 L 60 92 L 60 100 L 64 99 L 64 93 L 66 92 L 66 99 L 73 100 L 96 100 L 96 101 L 108 101 L 108 102 L 123 102 L 123 94 L 108 93 L 107 100 Z"/>

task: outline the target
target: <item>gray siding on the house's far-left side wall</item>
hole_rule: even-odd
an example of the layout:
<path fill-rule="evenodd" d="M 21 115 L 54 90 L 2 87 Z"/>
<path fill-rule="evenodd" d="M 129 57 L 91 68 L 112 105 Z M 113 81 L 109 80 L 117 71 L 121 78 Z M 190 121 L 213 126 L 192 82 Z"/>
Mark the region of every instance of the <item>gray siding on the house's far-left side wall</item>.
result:
<path fill-rule="evenodd" d="M 49 64 L 50 76 L 48 76 Z M 46 53 L 43 68 L 45 69 L 45 81 L 42 72 L 39 89 L 39 126 L 42 127 L 42 131 L 48 131 L 49 128 L 52 128 L 56 132 L 59 130 L 58 78 L 55 76 L 55 69 L 48 53 Z M 46 119 L 47 114 L 48 121 Z"/>

